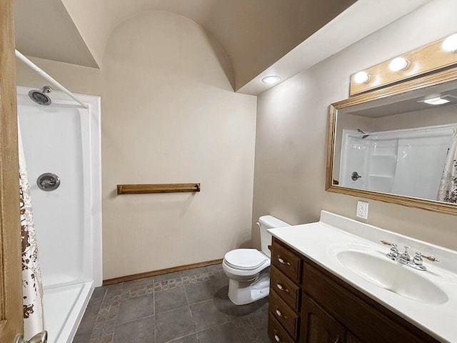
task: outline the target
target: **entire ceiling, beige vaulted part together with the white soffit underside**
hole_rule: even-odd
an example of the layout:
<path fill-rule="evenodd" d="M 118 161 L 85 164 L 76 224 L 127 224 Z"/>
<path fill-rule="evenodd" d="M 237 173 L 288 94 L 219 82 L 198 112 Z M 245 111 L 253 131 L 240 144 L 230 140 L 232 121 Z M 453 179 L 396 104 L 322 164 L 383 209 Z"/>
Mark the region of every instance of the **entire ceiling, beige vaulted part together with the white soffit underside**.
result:
<path fill-rule="evenodd" d="M 28 56 L 102 68 L 116 26 L 143 11 L 171 11 L 214 36 L 231 61 L 233 89 L 256 95 L 271 88 L 263 76 L 288 79 L 428 1 L 16 0 L 16 46 Z"/>

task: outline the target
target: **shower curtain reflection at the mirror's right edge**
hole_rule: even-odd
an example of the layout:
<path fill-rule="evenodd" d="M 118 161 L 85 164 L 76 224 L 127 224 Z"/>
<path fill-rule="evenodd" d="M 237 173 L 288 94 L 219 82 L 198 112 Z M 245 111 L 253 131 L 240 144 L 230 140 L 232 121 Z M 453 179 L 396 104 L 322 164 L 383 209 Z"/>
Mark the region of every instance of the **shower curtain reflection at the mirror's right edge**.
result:
<path fill-rule="evenodd" d="M 457 203 L 457 129 L 453 129 L 436 199 L 440 202 Z"/>

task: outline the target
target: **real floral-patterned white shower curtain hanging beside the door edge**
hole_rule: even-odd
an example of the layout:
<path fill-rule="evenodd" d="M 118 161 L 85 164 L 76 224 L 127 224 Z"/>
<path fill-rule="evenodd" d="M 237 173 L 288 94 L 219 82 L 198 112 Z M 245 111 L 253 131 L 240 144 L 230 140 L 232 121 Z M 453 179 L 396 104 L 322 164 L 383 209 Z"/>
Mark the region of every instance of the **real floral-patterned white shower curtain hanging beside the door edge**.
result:
<path fill-rule="evenodd" d="M 18 123 L 19 129 L 19 123 Z M 24 309 L 24 337 L 30 339 L 44 330 L 43 287 L 38 259 L 38 247 L 31 207 L 29 179 L 27 177 L 21 130 L 19 138 L 19 203 L 21 208 L 22 239 L 22 295 Z"/>

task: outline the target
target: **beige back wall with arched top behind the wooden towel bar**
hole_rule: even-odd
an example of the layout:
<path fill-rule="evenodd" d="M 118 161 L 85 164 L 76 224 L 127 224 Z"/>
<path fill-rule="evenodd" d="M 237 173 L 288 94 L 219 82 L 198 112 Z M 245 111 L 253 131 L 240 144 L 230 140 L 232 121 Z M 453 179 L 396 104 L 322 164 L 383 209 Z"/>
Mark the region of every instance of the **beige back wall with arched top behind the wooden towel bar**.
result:
<path fill-rule="evenodd" d="M 136 16 L 101 70 L 34 59 L 72 91 L 101 95 L 104 279 L 224 257 L 251 244 L 256 97 L 233 93 L 194 21 Z M 18 84 L 44 81 L 19 64 Z M 201 182 L 197 194 L 116 195 L 116 184 Z"/>

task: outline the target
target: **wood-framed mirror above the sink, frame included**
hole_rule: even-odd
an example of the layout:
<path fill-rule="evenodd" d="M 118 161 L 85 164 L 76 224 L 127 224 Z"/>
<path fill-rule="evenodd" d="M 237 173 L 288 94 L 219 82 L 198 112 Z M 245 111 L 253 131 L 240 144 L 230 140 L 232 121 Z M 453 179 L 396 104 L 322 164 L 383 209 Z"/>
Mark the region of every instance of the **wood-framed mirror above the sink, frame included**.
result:
<path fill-rule="evenodd" d="M 457 214 L 457 68 L 330 107 L 329 192 Z"/>

